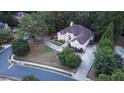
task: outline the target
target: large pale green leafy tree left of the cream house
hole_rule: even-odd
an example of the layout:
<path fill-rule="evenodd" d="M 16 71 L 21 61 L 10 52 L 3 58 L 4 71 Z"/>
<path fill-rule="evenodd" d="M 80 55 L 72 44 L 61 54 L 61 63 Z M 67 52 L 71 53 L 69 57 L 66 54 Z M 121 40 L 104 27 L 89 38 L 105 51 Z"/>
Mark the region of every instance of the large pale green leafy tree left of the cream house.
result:
<path fill-rule="evenodd" d="M 28 33 L 34 40 L 48 33 L 47 24 L 42 16 L 36 13 L 23 17 L 19 27 L 21 31 Z"/>

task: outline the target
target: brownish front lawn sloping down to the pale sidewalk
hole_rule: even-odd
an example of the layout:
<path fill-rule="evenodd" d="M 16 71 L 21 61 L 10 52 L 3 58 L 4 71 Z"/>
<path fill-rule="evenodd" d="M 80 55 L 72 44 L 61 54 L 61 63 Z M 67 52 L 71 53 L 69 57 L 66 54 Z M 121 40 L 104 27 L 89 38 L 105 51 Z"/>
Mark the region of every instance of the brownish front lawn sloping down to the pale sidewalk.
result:
<path fill-rule="evenodd" d="M 31 52 L 25 57 L 15 56 L 15 59 L 20 61 L 28 61 L 32 63 L 48 65 L 51 67 L 60 68 L 73 73 L 77 71 L 77 68 L 69 69 L 67 67 L 64 67 L 58 59 L 57 51 L 52 50 L 51 48 L 45 45 L 40 46 L 37 50 L 32 49 Z"/>

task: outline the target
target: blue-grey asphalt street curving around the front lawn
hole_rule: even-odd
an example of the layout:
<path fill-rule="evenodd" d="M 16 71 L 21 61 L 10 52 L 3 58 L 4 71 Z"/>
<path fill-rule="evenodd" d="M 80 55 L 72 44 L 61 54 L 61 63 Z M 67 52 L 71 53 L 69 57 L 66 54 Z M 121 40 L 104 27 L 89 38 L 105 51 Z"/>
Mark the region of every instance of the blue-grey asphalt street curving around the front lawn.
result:
<path fill-rule="evenodd" d="M 8 67 L 11 65 L 8 62 L 8 57 L 11 55 L 12 49 L 11 47 L 4 50 L 2 53 L 0 53 L 0 74 L 1 75 L 7 75 L 12 76 L 21 79 L 25 75 L 31 75 L 33 74 L 35 77 L 37 77 L 40 80 L 43 81 L 74 81 L 75 79 L 62 75 L 57 72 L 51 72 L 45 69 L 38 69 L 38 68 L 32 68 L 32 67 L 24 67 L 21 65 L 13 65 L 11 68 L 8 69 Z"/>

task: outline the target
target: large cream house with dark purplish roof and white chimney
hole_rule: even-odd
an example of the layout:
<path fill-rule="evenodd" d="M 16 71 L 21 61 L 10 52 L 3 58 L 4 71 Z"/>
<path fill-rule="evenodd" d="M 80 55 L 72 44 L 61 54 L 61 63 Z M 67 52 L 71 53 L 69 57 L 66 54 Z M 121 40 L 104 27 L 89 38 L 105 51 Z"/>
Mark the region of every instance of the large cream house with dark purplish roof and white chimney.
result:
<path fill-rule="evenodd" d="M 85 50 L 89 42 L 94 39 L 94 33 L 86 27 L 71 22 L 70 27 L 57 33 L 57 38 L 69 42 L 72 47 Z"/>

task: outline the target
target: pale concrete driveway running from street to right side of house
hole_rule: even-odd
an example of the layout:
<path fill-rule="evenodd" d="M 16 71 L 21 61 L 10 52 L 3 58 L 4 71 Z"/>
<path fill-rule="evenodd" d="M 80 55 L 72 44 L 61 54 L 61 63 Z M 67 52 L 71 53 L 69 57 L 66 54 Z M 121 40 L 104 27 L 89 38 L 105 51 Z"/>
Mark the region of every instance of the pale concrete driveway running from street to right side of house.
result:
<path fill-rule="evenodd" d="M 82 63 L 78 68 L 78 71 L 76 72 L 76 74 L 73 76 L 73 78 L 77 80 L 89 80 L 87 78 L 87 74 L 94 62 L 95 57 L 93 52 L 95 52 L 95 50 L 96 50 L 96 46 L 87 47 L 87 49 L 85 50 L 85 53 L 82 55 L 80 54 Z"/>

